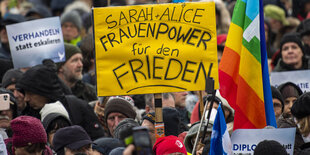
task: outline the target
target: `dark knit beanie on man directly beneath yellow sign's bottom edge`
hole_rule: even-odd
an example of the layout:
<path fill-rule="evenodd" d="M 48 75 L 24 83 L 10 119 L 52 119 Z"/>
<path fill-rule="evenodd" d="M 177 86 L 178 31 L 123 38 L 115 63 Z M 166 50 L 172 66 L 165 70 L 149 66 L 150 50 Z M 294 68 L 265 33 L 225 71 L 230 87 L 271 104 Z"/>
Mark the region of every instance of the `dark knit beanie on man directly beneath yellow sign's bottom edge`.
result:
<path fill-rule="evenodd" d="M 125 97 L 110 97 L 104 108 L 105 121 L 112 112 L 119 112 L 128 118 L 136 118 L 136 111 L 133 109 L 133 103 Z"/>

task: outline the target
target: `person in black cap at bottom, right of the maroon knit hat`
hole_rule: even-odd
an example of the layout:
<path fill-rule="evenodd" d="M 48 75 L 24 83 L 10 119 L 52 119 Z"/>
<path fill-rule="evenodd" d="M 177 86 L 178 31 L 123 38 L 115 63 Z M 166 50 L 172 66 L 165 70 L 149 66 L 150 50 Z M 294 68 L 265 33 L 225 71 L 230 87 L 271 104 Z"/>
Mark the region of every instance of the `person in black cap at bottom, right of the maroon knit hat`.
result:
<path fill-rule="evenodd" d="M 53 149 L 57 155 L 90 154 L 92 152 L 91 144 L 92 140 L 86 131 L 78 125 L 57 130 L 53 139 Z"/>

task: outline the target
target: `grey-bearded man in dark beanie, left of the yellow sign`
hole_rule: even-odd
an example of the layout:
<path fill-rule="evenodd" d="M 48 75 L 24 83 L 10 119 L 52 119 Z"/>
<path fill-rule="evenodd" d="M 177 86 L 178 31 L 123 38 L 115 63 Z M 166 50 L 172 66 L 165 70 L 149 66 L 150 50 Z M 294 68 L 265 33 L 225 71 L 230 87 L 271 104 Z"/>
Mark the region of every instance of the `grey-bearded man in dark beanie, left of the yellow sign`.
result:
<path fill-rule="evenodd" d="M 95 88 L 82 82 L 83 56 L 81 50 L 71 44 L 65 43 L 66 61 L 57 64 L 58 77 L 71 88 L 73 95 L 85 100 L 97 100 Z"/>

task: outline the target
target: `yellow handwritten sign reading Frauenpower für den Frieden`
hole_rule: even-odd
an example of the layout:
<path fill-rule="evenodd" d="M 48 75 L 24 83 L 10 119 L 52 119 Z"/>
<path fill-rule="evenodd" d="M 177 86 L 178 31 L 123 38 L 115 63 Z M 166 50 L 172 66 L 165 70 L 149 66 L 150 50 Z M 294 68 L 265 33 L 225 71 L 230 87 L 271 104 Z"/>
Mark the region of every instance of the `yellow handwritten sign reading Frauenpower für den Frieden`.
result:
<path fill-rule="evenodd" d="M 98 96 L 218 88 L 215 4 L 94 8 Z"/>

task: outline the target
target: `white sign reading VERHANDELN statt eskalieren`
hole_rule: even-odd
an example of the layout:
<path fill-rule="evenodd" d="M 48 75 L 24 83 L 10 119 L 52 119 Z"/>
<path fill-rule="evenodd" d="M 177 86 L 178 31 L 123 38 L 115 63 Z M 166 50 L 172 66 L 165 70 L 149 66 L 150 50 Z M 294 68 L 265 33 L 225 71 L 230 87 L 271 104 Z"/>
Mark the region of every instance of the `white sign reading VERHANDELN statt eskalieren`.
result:
<path fill-rule="evenodd" d="M 65 61 L 59 17 L 44 18 L 6 26 L 14 68 L 42 64 L 44 59 Z"/>

